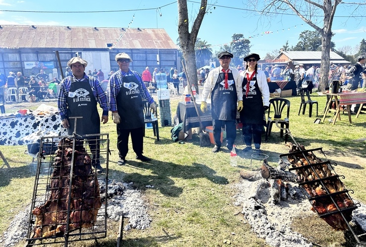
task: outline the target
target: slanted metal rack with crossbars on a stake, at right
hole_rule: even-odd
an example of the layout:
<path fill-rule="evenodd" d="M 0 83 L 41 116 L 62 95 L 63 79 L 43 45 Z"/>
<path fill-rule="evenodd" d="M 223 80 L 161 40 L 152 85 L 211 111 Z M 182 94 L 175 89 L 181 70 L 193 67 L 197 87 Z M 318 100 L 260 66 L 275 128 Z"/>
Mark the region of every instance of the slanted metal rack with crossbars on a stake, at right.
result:
<path fill-rule="evenodd" d="M 281 128 L 277 123 L 276 125 L 278 128 Z M 366 237 L 366 233 L 357 235 L 349 224 L 349 222 L 352 219 L 352 211 L 356 209 L 358 206 L 360 206 L 360 204 L 355 204 L 353 202 L 352 198 L 350 197 L 350 193 L 353 194 L 353 190 L 346 189 L 344 184 L 340 181 L 340 178 L 344 179 L 344 176 L 338 175 L 335 172 L 333 165 L 337 164 L 331 163 L 326 158 L 321 147 L 305 150 L 296 142 L 296 140 L 294 139 L 293 135 L 291 134 L 288 128 L 282 128 L 282 129 L 286 130 L 286 133 L 292 138 L 295 146 L 298 148 L 298 151 L 296 152 L 279 155 L 282 162 L 284 162 L 285 164 L 289 164 L 291 163 L 289 162 L 290 159 L 292 159 L 293 157 L 304 159 L 306 161 L 304 162 L 304 165 L 299 165 L 296 167 L 288 167 L 288 170 L 308 171 L 307 173 L 304 172 L 303 174 L 310 174 L 310 175 L 308 177 L 304 177 L 303 182 L 299 183 L 299 185 L 309 186 L 308 188 L 321 186 L 321 188 L 323 189 L 322 191 L 323 195 L 315 196 L 314 194 L 313 195 L 310 195 L 308 193 L 306 194 L 311 205 L 315 207 L 315 211 L 318 213 L 319 217 L 323 218 L 328 224 L 329 222 L 327 221 L 327 219 L 331 220 L 337 217 L 338 223 L 344 224 L 345 228 L 344 230 L 348 229 L 352 233 L 353 237 L 357 242 L 355 244 L 355 247 L 366 247 L 366 242 L 360 240 L 360 238 Z M 320 156 L 323 159 L 320 160 L 318 158 Z M 283 157 L 287 158 L 288 161 L 283 161 Z M 309 157 L 315 157 L 316 162 L 315 163 L 314 161 L 311 162 L 309 160 Z M 320 174 L 320 172 L 324 171 L 324 169 L 322 170 L 322 167 L 324 167 L 324 165 L 326 165 L 326 167 L 330 170 L 330 173 L 328 173 L 326 176 Z M 339 191 L 330 191 L 326 186 L 328 183 L 333 184 L 339 183 L 341 186 L 338 187 L 342 189 Z M 332 208 L 330 208 L 329 205 L 331 205 Z M 318 209 L 316 207 L 318 207 Z"/>

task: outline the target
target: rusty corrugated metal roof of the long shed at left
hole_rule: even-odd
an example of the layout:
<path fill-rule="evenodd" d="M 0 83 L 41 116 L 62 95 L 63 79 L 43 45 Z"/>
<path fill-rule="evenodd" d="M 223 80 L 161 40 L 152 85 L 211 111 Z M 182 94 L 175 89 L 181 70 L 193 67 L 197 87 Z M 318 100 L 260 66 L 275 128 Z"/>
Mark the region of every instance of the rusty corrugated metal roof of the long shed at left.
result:
<path fill-rule="evenodd" d="M 0 48 L 178 49 L 164 29 L 1 25 Z"/>

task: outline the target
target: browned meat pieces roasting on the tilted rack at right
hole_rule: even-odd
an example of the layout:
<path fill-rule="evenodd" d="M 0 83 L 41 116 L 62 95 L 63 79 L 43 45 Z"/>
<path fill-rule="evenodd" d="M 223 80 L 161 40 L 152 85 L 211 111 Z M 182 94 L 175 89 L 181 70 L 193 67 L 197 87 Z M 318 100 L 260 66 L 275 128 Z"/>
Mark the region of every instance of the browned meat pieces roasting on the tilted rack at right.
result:
<path fill-rule="evenodd" d="M 348 229 L 352 211 L 357 206 L 330 162 L 322 162 L 315 156 L 314 151 L 321 151 L 321 148 L 305 150 L 303 146 L 298 147 L 291 143 L 287 146 L 290 148 L 290 154 L 280 157 L 287 156 L 292 166 L 289 170 L 296 171 L 299 185 L 309 194 L 312 210 L 335 230 Z"/>

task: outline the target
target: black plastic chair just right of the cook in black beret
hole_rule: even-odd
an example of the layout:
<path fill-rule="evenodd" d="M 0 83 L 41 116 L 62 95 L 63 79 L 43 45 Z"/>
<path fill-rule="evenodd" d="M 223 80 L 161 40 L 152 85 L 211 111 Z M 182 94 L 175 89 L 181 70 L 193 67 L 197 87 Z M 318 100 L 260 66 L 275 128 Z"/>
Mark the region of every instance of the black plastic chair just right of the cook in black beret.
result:
<path fill-rule="evenodd" d="M 285 117 L 282 117 L 282 112 L 284 108 L 287 107 L 287 113 Z M 271 117 L 271 110 L 274 114 L 273 117 Z M 268 141 L 268 137 L 271 135 L 272 125 L 277 122 L 281 129 L 280 129 L 280 136 L 283 136 L 283 128 L 286 126 L 286 128 L 289 127 L 289 120 L 288 117 L 290 115 L 290 101 L 287 99 L 282 98 L 273 98 L 270 99 L 270 107 L 268 108 L 268 120 L 267 120 L 267 128 L 266 128 L 266 141 Z M 287 131 L 285 133 L 285 142 L 287 142 L 288 134 Z"/>

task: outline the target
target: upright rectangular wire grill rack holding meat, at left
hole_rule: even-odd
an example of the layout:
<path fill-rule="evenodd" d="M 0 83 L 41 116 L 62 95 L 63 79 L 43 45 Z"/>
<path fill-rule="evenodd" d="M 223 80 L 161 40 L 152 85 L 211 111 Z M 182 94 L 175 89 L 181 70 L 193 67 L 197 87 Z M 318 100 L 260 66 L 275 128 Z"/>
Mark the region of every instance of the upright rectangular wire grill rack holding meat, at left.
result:
<path fill-rule="evenodd" d="M 83 137 L 41 138 L 26 246 L 106 237 L 109 135 Z"/>

